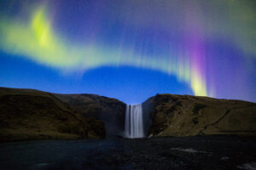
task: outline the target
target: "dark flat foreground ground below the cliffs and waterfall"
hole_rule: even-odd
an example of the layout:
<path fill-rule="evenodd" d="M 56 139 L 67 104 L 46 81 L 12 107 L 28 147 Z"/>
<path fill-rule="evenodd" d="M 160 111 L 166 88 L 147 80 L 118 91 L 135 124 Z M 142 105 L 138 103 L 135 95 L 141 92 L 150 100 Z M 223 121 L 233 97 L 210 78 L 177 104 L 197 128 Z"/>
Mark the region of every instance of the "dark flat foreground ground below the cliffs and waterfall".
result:
<path fill-rule="evenodd" d="M 0 144 L 0 169 L 255 169 L 256 139 L 184 137 Z"/>

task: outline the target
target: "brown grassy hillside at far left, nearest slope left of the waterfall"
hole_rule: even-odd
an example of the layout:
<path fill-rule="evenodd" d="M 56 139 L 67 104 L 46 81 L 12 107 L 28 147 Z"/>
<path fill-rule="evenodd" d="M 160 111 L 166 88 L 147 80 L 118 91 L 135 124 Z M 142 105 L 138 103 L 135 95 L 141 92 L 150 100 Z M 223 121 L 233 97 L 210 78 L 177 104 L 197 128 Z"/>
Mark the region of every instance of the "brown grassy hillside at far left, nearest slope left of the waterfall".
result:
<path fill-rule="evenodd" d="M 53 94 L 0 88 L 0 141 L 104 138 L 104 123 L 84 118 Z"/>

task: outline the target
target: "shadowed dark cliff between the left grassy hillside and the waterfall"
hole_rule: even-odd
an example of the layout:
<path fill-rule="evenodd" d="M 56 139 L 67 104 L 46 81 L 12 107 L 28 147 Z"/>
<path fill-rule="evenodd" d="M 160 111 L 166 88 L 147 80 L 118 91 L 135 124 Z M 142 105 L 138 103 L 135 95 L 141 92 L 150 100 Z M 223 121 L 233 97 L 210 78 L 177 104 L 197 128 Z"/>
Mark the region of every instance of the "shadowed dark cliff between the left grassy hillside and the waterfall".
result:
<path fill-rule="evenodd" d="M 125 130 L 125 103 L 95 94 L 55 94 L 73 111 L 105 123 L 107 136 L 122 135 Z"/>

